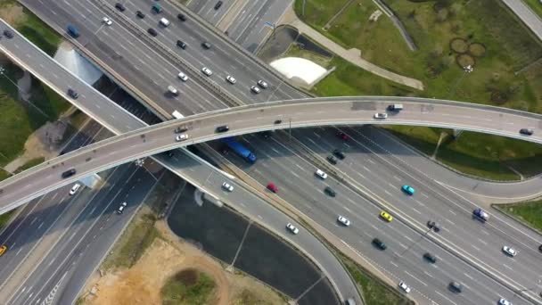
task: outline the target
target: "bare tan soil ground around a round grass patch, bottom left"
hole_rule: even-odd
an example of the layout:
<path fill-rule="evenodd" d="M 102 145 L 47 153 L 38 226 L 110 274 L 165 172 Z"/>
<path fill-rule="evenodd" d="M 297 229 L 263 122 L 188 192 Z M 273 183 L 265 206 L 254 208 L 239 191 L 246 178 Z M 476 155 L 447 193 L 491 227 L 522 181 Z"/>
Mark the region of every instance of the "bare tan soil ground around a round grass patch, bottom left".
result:
<path fill-rule="evenodd" d="M 285 304 L 282 296 L 249 276 L 235 275 L 226 270 L 193 244 L 174 235 L 167 224 L 156 223 L 160 232 L 141 260 L 129 269 L 120 269 L 89 280 L 86 298 L 88 305 L 161 304 L 160 289 L 169 276 L 186 268 L 207 273 L 216 283 L 211 304 L 241 305 Z M 210 304 L 209 304 L 210 305 Z"/>

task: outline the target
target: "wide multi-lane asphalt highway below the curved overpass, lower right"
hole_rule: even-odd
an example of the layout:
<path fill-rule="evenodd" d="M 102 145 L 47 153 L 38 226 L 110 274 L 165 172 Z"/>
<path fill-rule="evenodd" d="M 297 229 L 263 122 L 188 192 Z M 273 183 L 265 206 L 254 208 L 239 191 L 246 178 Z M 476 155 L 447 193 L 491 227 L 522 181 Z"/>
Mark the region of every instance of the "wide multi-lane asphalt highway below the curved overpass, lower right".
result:
<path fill-rule="evenodd" d="M 321 138 L 319 138 L 317 143 L 325 145 L 326 151 L 335 148 L 333 144 L 330 145 L 328 143 L 333 143 L 333 134 L 328 141 L 325 140 L 325 132 L 320 129 L 296 130 L 296 133 L 301 132 L 305 136 L 308 136 L 308 134 L 320 136 Z M 314 141 L 314 138 L 317 136 L 308 136 L 308 142 Z M 479 243 L 478 236 L 467 238 L 466 236 L 472 234 L 464 234 L 464 232 L 461 232 L 462 228 L 458 227 L 466 224 L 467 228 L 469 228 L 469 223 L 472 223 L 474 227 L 480 226 L 469 215 L 462 216 L 465 221 L 461 224 L 458 223 L 457 226 L 452 226 L 450 223 L 442 220 L 440 223 L 444 229 L 439 234 L 429 232 L 425 227 L 426 221 L 433 216 L 429 208 L 424 210 L 418 204 L 408 202 L 408 207 L 400 207 L 402 211 L 416 209 L 422 214 L 418 215 L 416 213 L 415 216 L 404 217 L 402 214 L 397 214 L 394 213 L 394 210 L 390 210 L 398 208 L 399 204 L 396 203 L 398 200 L 393 202 L 396 204 L 391 205 L 390 209 L 382 209 L 381 206 L 367 201 L 365 197 L 353 192 L 349 187 L 346 187 L 333 177 L 328 177 L 325 180 L 316 177 L 315 166 L 290 149 L 291 145 L 288 144 L 287 135 L 274 135 L 267 139 L 261 135 L 243 136 L 242 138 L 243 144 L 251 148 L 258 147 L 255 152 L 259 156 L 259 161 L 253 165 L 248 165 L 246 161 L 243 161 L 233 152 L 228 153 L 229 160 L 234 161 L 235 165 L 244 169 L 250 177 L 256 178 L 262 185 L 262 188 L 268 183 L 274 183 L 278 187 L 278 195 L 283 197 L 284 200 L 291 202 L 293 206 L 303 211 L 310 218 L 323 224 L 334 235 L 337 235 L 338 238 L 348 243 L 349 246 L 355 248 L 360 253 L 359 255 L 364 257 L 365 260 L 369 260 L 386 276 L 397 282 L 401 280 L 406 281 L 406 284 L 409 284 L 415 290 L 415 300 L 422 303 L 436 301 L 439 304 L 489 304 L 497 302 L 499 297 L 505 297 L 509 300 L 517 298 L 514 295 L 514 291 L 508 290 L 501 284 L 497 284 L 493 279 L 481 272 L 470 270 L 472 268 L 470 264 L 465 264 L 464 260 L 458 259 L 456 255 L 450 254 L 449 251 L 442 249 L 438 243 L 433 242 L 434 238 L 445 240 L 445 243 L 452 243 L 452 247 L 455 250 L 459 250 L 462 247 L 470 247 L 472 243 Z M 341 142 L 338 141 L 338 144 L 341 145 Z M 326 154 L 328 153 L 326 152 Z M 341 161 L 339 165 L 349 168 L 349 166 L 355 163 L 350 163 L 350 161 L 355 158 L 363 158 L 366 164 L 371 164 L 374 162 L 372 160 L 376 157 L 372 156 L 370 152 L 363 154 L 352 151 L 348 152 L 347 159 Z M 354 168 L 351 170 L 359 173 L 365 173 L 366 171 Z M 368 170 L 374 170 L 374 167 Z M 386 177 L 382 177 L 382 179 L 386 179 Z M 395 181 L 395 179 L 389 181 Z M 397 183 L 400 184 L 400 181 Z M 324 194 L 324 187 L 326 186 L 333 188 L 336 192 L 336 197 Z M 377 186 L 384 188 L 384 192 L 390 191 L 390 195 L 397 194 L 397 197 L 406 197 L 405 194 L 400 193 L 398 185 L 393 185 L 393 189 L 390 189 L 390 186 L 386 182 L 380 180 L 374 181 L 372 185 L 368 185 L 374 192 L 379 191 Z M 417 190 L 419 194 L 416 194 L 416 197 L 425 198 L 423 196 L 425 194 L 424 191 Z M 431 197 L 427 198 L 427 200 L 420 199 L 420 201 L 426 203 L 434 201 L 434 198 Z M 388 201 L 388 198 L 386 200 L 387 202 L 392 202 L 391 200 Z M 425 206 L 427 207 L 428 205 Z M 436 204 L 431 207 L 439 208 Z M 395 219 L 391 223 L 383 221 L 378 216 L 381 210 L 387 210 Z M 408 212 L 409 210 L 406 211 Z M 339 215 L 349 218 L 352 221 L 352 225 L 350 227 L 339 225 L 337 222 Z M 423 227 L 424 234 L 421 235 L 419 230 L 413 230 L 409 225 L 410 218 L 415 218 L 413 220 L 418 222 L 419 227 Z M 460 217 L 450 215 L 448 218 L 456 221 L 456 218 Z M 433 219 L 438 220 L 437 218 Z M 476 230 L 480 230 L 480 228 L 475 228 L 474 231 Z M 490 231 L 490 229 L 487 229 L 486 233 Z M 491 240 L 494 237 L 492 233 L 487 237 L 491 243 L 482 249 L 486 251 L 477 253 L 480 260 L 487 260 L 495 268 L 505 269 L 504 271 L 499 271 L 507 273 L 507 276 L 513 276 L 514 279 L 519 275 L 511 274 L 511 271 L 501 266 L 509 265 L 510 268 L 516 268 L 517 265 L 526 263 L 529 267 L 525 269 L 531 267 L 538 268 L 534 267 L 537 258 L 531 257 L 530 253 L 526 253 L 529 256 L 521 260 L 519 255 L 515 259 L 506 257 L 500 251 L 501 245 L 498 244 L 499 241 Z M 461 238 L 459 240 L 455 239 L 456 235 Z M 387 243 L 388 249 L 386 251 L 380 251 L 371 246 L 371 241 L 375 237 Z M 502 237 L 499 240 L 502 240 Z M 492 244 L 496 244 L 496 246 L 492 247 Z M 536 251 L 536 248 L 534 250 Z M 437 257 L 435 264 L 430 264 L 423 259 L 423 253 L 427 251 Z M 469 251 L 472 251 L 472 249 L 469 249 Z M 534 253 L 532 250 L 526 250 L 526 252 L 529 251 Z M 469 260 L 471 259 L 469 258 Z M 530 277 L 525 278 L 523 282 L 532 283 L 529 281 L 534 276 L 534 283 L 532 284 L 536 284 L 536 272 L 533 271 L 529 274 Z M 466 287 L 469 287 L 468 292 L 465 291 L 460 295 L 449 292 L 448 284 L 450 281 L 463 283 Z M 529 303 L 525 300 L 514 300 L 514 303 L 521 302 Z"/>

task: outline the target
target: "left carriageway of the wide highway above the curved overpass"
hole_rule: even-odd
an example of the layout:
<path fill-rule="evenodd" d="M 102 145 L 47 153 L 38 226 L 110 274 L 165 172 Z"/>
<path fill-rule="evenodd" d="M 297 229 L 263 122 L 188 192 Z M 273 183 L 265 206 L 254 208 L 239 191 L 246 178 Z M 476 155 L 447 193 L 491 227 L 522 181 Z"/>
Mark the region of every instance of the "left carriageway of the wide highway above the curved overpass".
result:
<path fill-rule="evenodd" d="M 145 95 L 150 95 L 149 97 L 153 100 L 166 103 L 168 105 L 166 110 L 169 113 L 172 110 L 179 110 L 185 114 L 193 114 L 198 111 L 212 111 L 223 108 L 220 106 L 223 103 L 217 97 L 209 94 L 206 90 L 202 90 L 201 86 L 193 82 L 192 79 L 183 83 L 177 77 L 177 74 L 181 71 L 180 69 L 161 58 L 159 54 L 156 54 L 152 48 L 140 42 L 139 38 L 135 37 L 131 32 L 119 26 L 115 22 L 115 16 L 109 17 L 114 23 L 108 27 L 102 21 L 105 13 L 93 4 L 81 5 L 76 2 L 70 4 L 68 8 L 71 10 L 66 12 L 66 15 L 75 15 L 77 12 L 86 10 L 94 16 L 94 18 L 86 18 L 84 22 L 81 21 L 78 24 L 80 28 L 90 28 L 85 35 L 86 37 L 94 37 L 90 41 L 95 48 L 91 49 L 90 45 L 85 44 L 86 48 L 94 53 L 105 52 L 106 54 L 100 56 L 100 58 L 111 58 L 116 62 L 115 66 L 124 68 L 126 71 L 122 74 L 128 75 L 127 79 L 136 79 L 136 87 L 140 89 L 146 87 L 147 89 L 144 90 Z M 75 22 L 77 21 L 72 23 Z M 137 43 L 138 41 L 139 43 Z M 146 61 L 144 61 L 145 58 Z M 183 100 L 188 99 L 193 103 L 181 103 L 181 97 L 179 96 L 165 96 L 169 85 L 179 90 Z"/>

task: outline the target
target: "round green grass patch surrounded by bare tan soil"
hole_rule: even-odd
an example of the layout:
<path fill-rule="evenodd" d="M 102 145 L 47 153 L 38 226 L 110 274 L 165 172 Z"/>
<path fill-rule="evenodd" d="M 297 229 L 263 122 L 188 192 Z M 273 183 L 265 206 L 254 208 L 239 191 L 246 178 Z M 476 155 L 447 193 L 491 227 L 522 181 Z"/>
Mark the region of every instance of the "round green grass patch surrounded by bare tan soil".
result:
<path fill-rule="evenodd" d="M 164 305 L 209 304 L 215 290 L 213 279 L 197 269 L 185 269 L 171 276 L 161 289 Z"/>

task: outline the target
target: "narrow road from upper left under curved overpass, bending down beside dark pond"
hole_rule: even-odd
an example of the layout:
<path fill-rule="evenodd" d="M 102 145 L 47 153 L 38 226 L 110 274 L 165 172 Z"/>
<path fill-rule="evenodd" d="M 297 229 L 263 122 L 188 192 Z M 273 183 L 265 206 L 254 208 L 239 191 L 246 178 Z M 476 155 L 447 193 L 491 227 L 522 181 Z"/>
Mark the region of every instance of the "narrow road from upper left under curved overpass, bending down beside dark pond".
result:
<path fill-rule="evenodd" d="M 17 40 L 18 38 L 19 40 Z M 26 52 L 21 52 L 21 46 L 25 44 L 27 46 L 23 49 L 25 49 Z M 79 98 L 77 101 L 78 103 L 76 104 L 83 110 L 86 110 L 89 115 L 97 117 L 97 119 L 104 118 L 106 115 L 112 116 L 109 120 L 105 119 L 107 120 L 105 126 L 111 128 L 111 130 L 119 132 L 130 130 L 131 128 L 136 128 L 137 126 L 144 124 L 141 120 L 130 118 L 129 113 L 124 117 L 124 112 L 126 111 L 123 112 L 122 109 L 119 110 L 118 107 L 113 106 L 111 102 L 111 105 L 108 104 L 107 98 L 99 94 L 92 87 L 80 83 L 80 80 L 74 78 L 67 70 L 62 69 L 62 67 L 59 67 L 55 63 L 46 63 L 51 62 L 50 58 L 43 53 L 36 52 L 34 47 L 29 47 L 28 45 L 28 41 L 16 36 L 13 37 L 12 40 L 9 40 L 7 46 L 3 45 L 3 47 L 4 51 L 10 54 L 13 59 L 19 58 L 15 54 L 22 54 L 26 55 L 28 58 L 37 60 L 37 62 L 39 62 L 37 67 L 29 67 L 32 69 L 32 73 L 52 86 L 59 94 L 65 95 L 64 90 L 67 90 L 68 87 L 80 90 L 78 91 Z M 7 47 L 7 49 L 5 49 L 5 47 Z M 12 50 L 12 52 L 9 50 Z M 24 62 L 20 63 L 24 66 Z M 49 73 L 47 71 L 49 71 Z M 187 152 L 176 152 L 176 155 L 173 158 L 157 156 L 156 159 L 168 169 L 176 172 L 179 176 L 188 177 L 188 181 L 201 187 L 201 189 L 207 190 L 210 188 L 218 190 L 220 187 L 219 185 L 221 185 L 222 181 L 225 179 L 225 175 L 222 172 L 210 167 L 209 164 L 202 162 L 200 159 L 195 158 Z M 224 196 L 224 194 L 217 194 L 213 191 L 210 193 L 214 193 L 217 198 Z M 249 194 L 247 191 L 243 192 L 241 189 L 237 192 L 237 195 L 242 198 L 242 201 L 240 202 L 251 202 L 251 204 L 250 209 L 245 209 L 238 206 L 238 202 L 229 202 L 236 210 L 244 211 L 247 216 L 251 218 L 260 217 L 261 220 L 259 220 L 259 222 L 263 226 L 275 230 L 275 233 L 279 235 L 284 235 L 283 230 L 281 230 L 282 224 L 285 222 L 292 222 L 291 218 L 287 218 L 279 211 L 274 210 L 271 206 L 267 205 L 266 202 Z M 281 221 L 271 222 L 271 220 L 277 219 L 281 219 Z M 304 251 L 306 255 L 313 258 L 316 264 L 323 264 L 320 265 L 320 267 L 323 268 L 324 274 L 329 276 L 330 281 L 334 284 L 335 289 L 337 289 L 341 296 L 354 296 L 357 298 L 357 293 L 355 293 L 356 289 L 350 281 L 349 275 L 334 258 L 333 254 L 328 251 L 322 243 L 318 242 L 314 236 L 304 235 L 300 239 L 297 239 L 295 244 L 301 251 Z"/>

